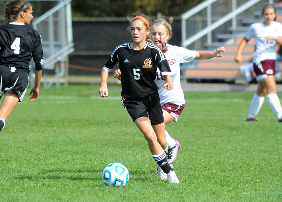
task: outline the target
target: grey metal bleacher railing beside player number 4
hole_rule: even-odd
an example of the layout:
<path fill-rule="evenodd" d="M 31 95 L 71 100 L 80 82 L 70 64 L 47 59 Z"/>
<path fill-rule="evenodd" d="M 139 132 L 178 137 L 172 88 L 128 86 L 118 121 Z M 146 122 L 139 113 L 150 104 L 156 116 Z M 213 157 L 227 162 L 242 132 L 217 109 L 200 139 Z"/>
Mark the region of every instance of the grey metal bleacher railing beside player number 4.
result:
<path fill-rule="evenodd" d="M 38 1 L 38 0 L 31 0 Z M 68 55 L 74 51 L 72 36 L 72 0 L 39 0 L 58 1 L 58 4 L 39 18 L 33 21 L 35 30 L 41 33 L 44 51 L 44 70 L 53 70 L 55 75 L 50 78 L 46 71 L 43 72 L 44 87 L 56 83 L 57 87 L 63 81 L 66 84 L 68 74 Z M 44 35 L 44 36 L 43 36 Z"/>

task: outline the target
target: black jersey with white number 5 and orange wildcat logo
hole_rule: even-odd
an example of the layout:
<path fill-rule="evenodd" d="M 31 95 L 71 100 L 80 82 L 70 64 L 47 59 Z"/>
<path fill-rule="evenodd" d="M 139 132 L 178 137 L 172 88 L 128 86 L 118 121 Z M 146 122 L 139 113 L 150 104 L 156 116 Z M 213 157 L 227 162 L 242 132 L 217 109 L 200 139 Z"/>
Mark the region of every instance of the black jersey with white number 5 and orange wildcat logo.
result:
<path fill-rule="evenodd" d="M 103 70 L 110 72 L 118 63 L 122 77 L 121 96 L 144 98 L 159 89 L 154 82 L 157 68 L 162 75 L 171 75 L 171 71 L 167 59 L 157 46 L 147 42 L 144 48 L 135 51 L 130 48 L 130 43 L 116 47 Z"/>

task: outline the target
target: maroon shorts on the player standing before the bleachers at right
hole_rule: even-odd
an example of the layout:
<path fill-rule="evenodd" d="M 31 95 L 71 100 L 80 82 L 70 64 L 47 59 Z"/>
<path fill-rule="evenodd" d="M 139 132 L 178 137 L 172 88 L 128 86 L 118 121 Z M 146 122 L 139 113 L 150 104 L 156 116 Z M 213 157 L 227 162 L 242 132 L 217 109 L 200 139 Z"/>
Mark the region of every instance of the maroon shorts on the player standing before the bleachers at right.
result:
<path fill-rule="evenodd" d="M 263 74 L 267 74 L 267 75 L 275 74 L 275 60 L 266 59 L 266 60 L 254 63 L 254 72 L 256 73 L 256 76 L 263 75 Z"/>

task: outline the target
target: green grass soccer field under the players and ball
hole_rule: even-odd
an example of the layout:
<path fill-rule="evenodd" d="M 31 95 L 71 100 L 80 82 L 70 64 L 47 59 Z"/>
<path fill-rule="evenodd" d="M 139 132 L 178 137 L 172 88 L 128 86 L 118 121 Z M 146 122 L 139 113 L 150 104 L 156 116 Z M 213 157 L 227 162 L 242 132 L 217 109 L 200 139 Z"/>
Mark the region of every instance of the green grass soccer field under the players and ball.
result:
<path fill-rule="evenodd" d="M 282 123 L 267 101 L 246 122 L 254 93 L 185 93 L 166 127 L 181 143 L 180 183 L 169 184 L 150 175 L 146 140 L 120 86 L 108 87 L 108 98 L 98 85 L 41 88 L 35 102 L 26 93 L 0 133 L 0 201 L 282 201 Z M 125 187 L 103 184 L 111 162 L 128 168 Z"/>

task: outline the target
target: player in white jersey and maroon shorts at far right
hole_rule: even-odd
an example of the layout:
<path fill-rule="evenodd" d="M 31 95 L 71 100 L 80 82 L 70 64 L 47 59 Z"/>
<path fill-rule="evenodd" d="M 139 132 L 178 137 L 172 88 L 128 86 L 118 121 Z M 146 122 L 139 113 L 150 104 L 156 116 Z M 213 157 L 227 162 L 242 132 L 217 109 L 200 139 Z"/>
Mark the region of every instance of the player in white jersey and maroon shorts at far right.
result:
<path fill-rule="evenodd" d="M 258 81 L 258 88 L 254 95 L 247 121 L 258 121 L 258 114 L 264 102 L 264 95 L 267 93 L 267 102 L 276 115 L 279 122 L 282 122 L 282 108 L 280 100 L 277 96 L 275 82 L 275 59 L 277 44 L 282 44 L 282 25 L 275 21 L 276 10 L 271 4 L 267 4 L 262 9 L 263 22 L 252 24 L 245 37 L 241 41 L 235 61 L 242 62 L 241 53 L 248 41 L 254 37 L 256 43 L 256 51 L 254 54 L 254 72 Z"/>

